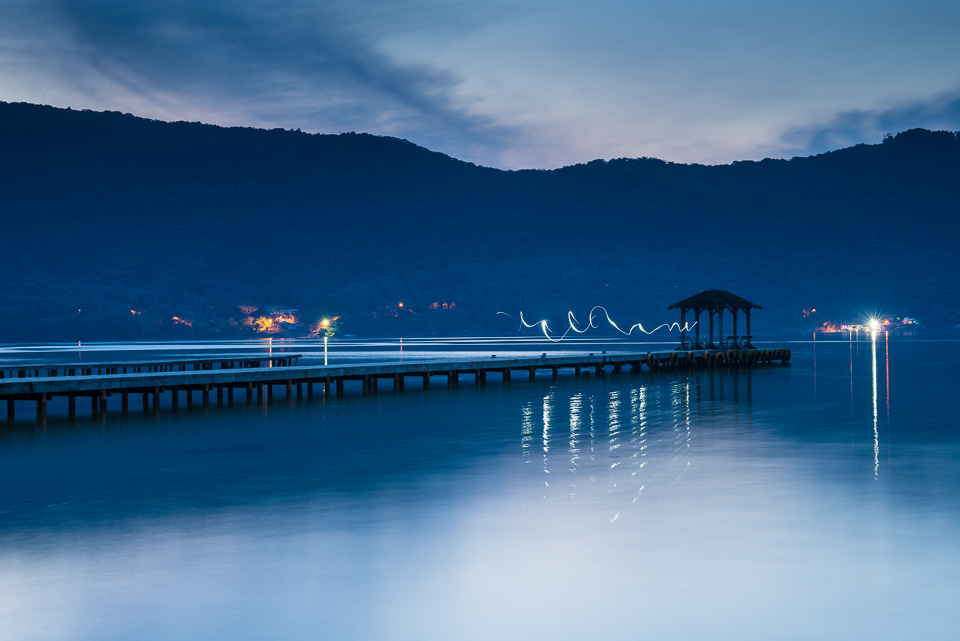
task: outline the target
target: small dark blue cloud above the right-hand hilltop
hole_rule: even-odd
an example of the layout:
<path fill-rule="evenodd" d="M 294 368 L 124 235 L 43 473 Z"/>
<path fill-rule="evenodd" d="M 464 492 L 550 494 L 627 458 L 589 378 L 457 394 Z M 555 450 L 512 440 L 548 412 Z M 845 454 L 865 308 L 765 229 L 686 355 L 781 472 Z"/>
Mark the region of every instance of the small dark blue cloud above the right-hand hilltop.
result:
<path fill-rule="evenodd" d="M 826 124 L 787 132 L 783 142 L 795 155 L 810 155 L 861 142 L 880 142 L 885 134 L 917 127 L 960 130 L 960 90 L 890 109 L 839 113 Z"/>

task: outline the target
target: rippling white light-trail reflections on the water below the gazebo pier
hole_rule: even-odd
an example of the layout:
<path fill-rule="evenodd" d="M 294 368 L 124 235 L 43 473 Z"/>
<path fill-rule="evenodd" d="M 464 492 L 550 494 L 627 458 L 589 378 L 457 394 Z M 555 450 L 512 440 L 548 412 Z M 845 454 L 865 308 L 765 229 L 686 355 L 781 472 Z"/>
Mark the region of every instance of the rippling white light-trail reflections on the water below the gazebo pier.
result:
<path fill-rule="evenodd" d="M 566 488 L 572 500 L 596 500 L 597 491 L 621 497 L 609 517 L 615 522 L 651 487 L 681 483 L 704 425 L 711 425 L 720 412 L 726 412 L 733 425 L 739 422 L 737 416 L 749 413 L 753 373 L 712 370 L 670 376 L 645 382 L 617 377 L 599 390 L 596 385 L 554 385 L 539 406 L 523 404 L 521 460 L 527 474 L 539 477 L 529 485 L 545 488 L 543 498 L 551 496 L 551 486 Z M 725 393 L 726 385 L 732 389 Z M 738 438 L 736 433 L 727 437 Z M 554 465 L 561 457 L 565 470 Z M 535 459 L 540 465 L 531 466 Z M 598 485 L 588 492 L 584 482 Z"/>

